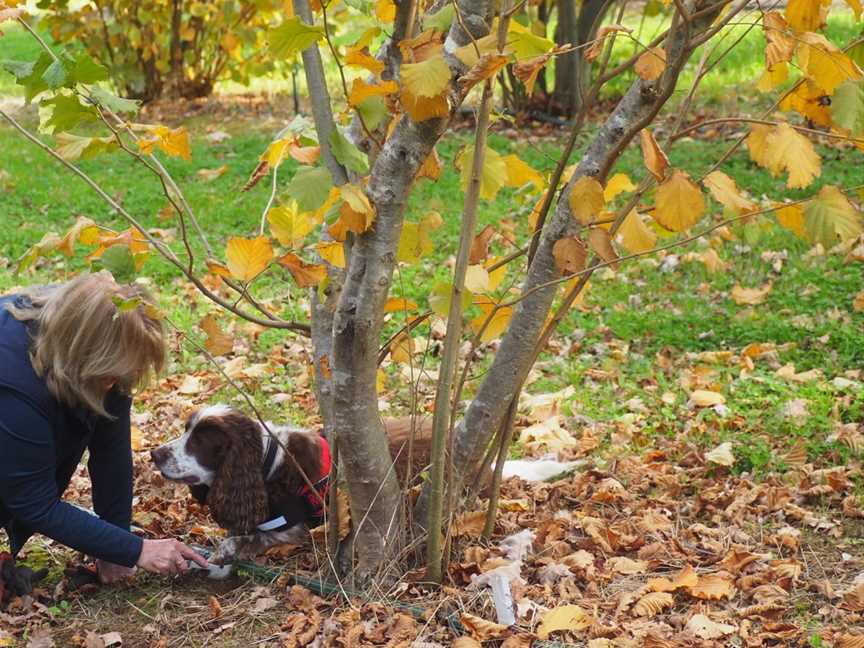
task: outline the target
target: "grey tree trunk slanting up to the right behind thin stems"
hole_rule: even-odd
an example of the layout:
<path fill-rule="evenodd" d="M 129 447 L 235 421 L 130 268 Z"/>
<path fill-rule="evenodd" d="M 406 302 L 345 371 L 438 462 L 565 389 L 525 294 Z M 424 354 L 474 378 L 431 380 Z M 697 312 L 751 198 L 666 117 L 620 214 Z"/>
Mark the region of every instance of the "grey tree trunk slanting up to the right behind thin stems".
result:
<path fill-rule="evenodd" d="M 692 12 L 694 6 L 707 6 L 709 2 L 711 0 L 696 0 L 685 2 L 685 5 Z M 576 171 L 561 193 L 554 215 L 543 229 L 522 286 L 522 294 L 531 294 L 517 306 L 492 366 L 456 428 L 453 461 L 457 468 L 454 472 L 463 480 L 476 475 L 485 449 L 507 412 L 507 404 L 516 396 L 531 369 L 535 345 L 557 292 L 557 286 L 537 288 L 561 276 L 552 256 L 552 246 L 562 236 L 578 234 L 581 229 L 568 206 L 573 184 L 585 175 L 604 181 L 626 146 L 651 123 L 672 95 L 690 53 L 687 50 L 690 38 L 707 28 L 721 8 L 718 4 L 716 10 L 701 16 L 690 29 L 681 25 L 673 29 L 665 44 L 669 61 L 666 72 L 655 82 L 637 79 L 633 83 L 583 153 Z M 458 489 L 460 485 L 451 487 Z M 421 495 L 415 511 L 418 520 L 426 519 L 426 491 L 428 488 Z"/>

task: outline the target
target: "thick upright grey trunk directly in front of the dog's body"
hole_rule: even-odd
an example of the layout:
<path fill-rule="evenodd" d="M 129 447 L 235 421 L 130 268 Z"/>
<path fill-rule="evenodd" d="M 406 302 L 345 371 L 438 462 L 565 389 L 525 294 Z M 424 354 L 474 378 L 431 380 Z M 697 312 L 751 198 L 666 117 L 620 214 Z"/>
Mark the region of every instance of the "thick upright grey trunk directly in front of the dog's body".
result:
<path fill-rule="evenodd" d="M 459 0 L 458 5 L 462 20 L 454 21 L 448 46 L 467 44 L 472 36 L 479 38 L 488 31 L 485 18 L 490 0 Z M 410 7 L 400 6 L 399 10 L 406 8 Z M 311 15 L 298 14 L 309 22 Z M 462 29 L 462 24 L 471 30 L 471 35 Z M 317 48 L 317 45 L 312 47 Z M 305 57 L 304 63 L 307 63 Z M 451 62 L 451 65 L 456 63 Z M 310 68 L 307 68 L 307 80 L 309 74 Z M 310 83 L 310 93 L 314 92 Z M 323 143 L 327 137 L 319 121 L 327 120 L 316 118 L 319 142 Z M 332 125 L 332 119 L 329 124 Z M 414 176 L 447 124 L 447 119 L 416 123 L 403 115 L 387 138 L 372 165 L 366 188 L 376 210 L 375 222 L 353 241 L 333 313 L 328 359 L 332 391 L 328 398 L 332 398 L 333 433 L 339 443 L 342 473 L 348 489 L 356 575 L 361 582 L 381 575 L 382 568 L 398 555 L 403 545 L 402 493 L 378 412 L 375 385 L 378 349 L 408 195 Z M 316 358 L 326 355 L 322 349 L 326 349 L 328 341 L 321 335 L 326 328 L 326 313 L 326 309 L 320 307 L 313 310 L 313 317 L 325 317 L 323 323 L 313 323 L 312 327 Z"/>

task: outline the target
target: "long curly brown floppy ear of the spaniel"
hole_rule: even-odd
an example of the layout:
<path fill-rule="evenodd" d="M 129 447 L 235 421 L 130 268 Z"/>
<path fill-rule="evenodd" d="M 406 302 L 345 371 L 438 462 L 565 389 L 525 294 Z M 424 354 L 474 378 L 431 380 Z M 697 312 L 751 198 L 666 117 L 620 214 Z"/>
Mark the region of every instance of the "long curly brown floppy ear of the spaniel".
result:
<path fill-rule="evenodd" d="M 252 419 L 238 413 L 213 424 L 228 439 L 222 463 L 207 494 L 213 519 L 233 535 L 253 533 L 267 518 L 267 491 L 261 474 L 261 432 Z"/>

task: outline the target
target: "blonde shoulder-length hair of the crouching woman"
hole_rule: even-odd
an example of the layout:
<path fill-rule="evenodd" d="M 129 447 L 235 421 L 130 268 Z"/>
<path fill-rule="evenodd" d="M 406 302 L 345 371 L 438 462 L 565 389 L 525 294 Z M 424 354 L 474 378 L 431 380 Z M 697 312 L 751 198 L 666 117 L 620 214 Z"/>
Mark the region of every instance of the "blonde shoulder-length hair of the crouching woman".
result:
<path fill-rule="evenodd" d="M 29 303 L 8 309 L 37 323 L 30 360 L 57 400 L 108 416 L 108 385 L 130 393 L 165 365 L 162 323 L 141 286 L 103 271 L 23 294 Z"/>

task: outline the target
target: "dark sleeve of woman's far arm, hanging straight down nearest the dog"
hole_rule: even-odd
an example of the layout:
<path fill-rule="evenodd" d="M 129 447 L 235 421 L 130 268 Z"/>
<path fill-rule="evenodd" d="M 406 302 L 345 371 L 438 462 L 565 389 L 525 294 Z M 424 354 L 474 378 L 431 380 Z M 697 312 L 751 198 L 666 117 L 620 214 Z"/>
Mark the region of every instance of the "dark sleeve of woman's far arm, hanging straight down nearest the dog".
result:
<path fill-rule="evenodd" d="M 115 418 L 99 419 L 88 446 L 93 510 L 103 520 L 128 531 L 132 522 L 132 399 L 112 392 L 105 406 Z"/>

